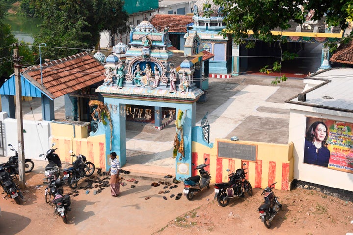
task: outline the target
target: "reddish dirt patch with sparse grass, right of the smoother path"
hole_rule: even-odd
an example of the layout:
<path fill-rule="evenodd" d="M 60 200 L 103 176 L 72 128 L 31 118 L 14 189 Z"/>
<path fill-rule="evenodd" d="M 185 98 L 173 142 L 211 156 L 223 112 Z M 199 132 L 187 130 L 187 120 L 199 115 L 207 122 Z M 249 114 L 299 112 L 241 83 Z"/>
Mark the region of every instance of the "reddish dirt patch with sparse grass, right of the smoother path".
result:
<path fill-rule="evenodd" d="M 353 233 L 353 204 L 316 190 L 274 190 L 283 204 L 267 229 L 259 218 L 262 189 L 252 197 L 233 199 L 227 207 L 212 200 L 205 206 L 180 215 L 154 235 L 345 235 Z"/>

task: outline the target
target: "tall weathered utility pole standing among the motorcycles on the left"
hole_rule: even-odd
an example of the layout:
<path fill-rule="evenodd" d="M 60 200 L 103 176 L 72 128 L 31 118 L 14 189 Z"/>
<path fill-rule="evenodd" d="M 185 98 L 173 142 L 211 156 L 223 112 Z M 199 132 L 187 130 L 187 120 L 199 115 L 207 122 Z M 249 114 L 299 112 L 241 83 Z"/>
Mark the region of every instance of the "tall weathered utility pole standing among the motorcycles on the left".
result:
<path fill-rule="evenodd" d="M 20 188 L 25 189 L 25 157 L 24 157 L 24 147 L 23 147 L 23 122 L 22 122 L 22 91 L 21 91 L 21 76 L 20 76 L 20 66 L 18 64 L 19 60 L 19 49 L 18 44 L 16 44 L 16 49 L 14 49 L 14 68 L 15 68 L 15 97 L 16 97 L 16 120 L 17 120 L 17 149 L 19 155 L 19 184 Z"/>

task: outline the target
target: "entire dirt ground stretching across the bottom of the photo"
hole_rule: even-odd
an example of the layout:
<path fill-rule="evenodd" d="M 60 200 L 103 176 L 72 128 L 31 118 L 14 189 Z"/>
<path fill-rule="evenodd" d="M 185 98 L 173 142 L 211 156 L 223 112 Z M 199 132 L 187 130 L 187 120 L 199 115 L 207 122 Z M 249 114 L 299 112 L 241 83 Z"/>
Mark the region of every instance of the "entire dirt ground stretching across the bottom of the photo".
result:
<path fill-rule="evenodd" d="M 51 206 L 44 202 L 44 187 L 36 187 L 43 184 L 44 175 L 33 172 L 26 176 L 28 185 L 22 205 L 0 198 L 1 235 L 59 234 L 63 230 L 74 234 L 105 233 L 117 225 L 120 231 L 129 235 L 344 235 L 353 232 L 353 224 L 350 224 L 353 203 L 316 190 L 274 190 L 283 204 L 283 210 L 276 215 L 271 228 L 267 229 L 258 219 L 257 208 L 263 202 L 259 188 L 254 189 L 252 197 L 246 195 L 244 199 L 233 199 L 227 207 L 221 207 L 213 199 L 213 187 L 196 195 L 193 201 L 188 201 L 185 196 L 176 201 L 170 198 L 170 194 L 181 192 L 182 184 L 168 194 L 159 195 L 162 186 L 151 187 L 150 181 L 142 179 L 135 188 L 128 187 L 133 183 L 125 181 L 128 185 L 121 187 L 121 196 L 116 199 L 118 203 L 113 204 L 114 211 L 110 211 L 112 197 L 109 187 L 97 194 L 99 197 L 93 195 L 93 189 L 88 195 L 80 189 L 79 196 L 71 197 L 69 224 L 64 224 L 59 216 L 53 215 Z M 84 180 L 81 180 L 80 186 L 85 186 Z M 65 187 L 64 191 L 72 190 Z M 151 198 L 145 200 L 146 196 Z"/>

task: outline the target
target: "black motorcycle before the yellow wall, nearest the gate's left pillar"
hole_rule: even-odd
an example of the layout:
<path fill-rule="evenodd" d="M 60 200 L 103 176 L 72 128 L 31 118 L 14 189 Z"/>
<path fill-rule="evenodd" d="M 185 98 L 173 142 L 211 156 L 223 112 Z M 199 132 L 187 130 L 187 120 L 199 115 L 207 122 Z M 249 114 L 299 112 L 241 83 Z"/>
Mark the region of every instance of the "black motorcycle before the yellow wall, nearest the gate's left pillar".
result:
<path fill-rule="evenodd" d="M 64 175 L 68 174 L 69 187 L 72 189 L 77 188 L 78 181 L 83 177 L 89 177 L 95 171 L 95 165 L 92 162 L 87 162 L 87 159 L 84 155 L 73 154 L 73 151 L 70 150 L 71 157 L 76 157 L 76 160 L 73 162 L 73 166 L 69 169 L 64 169 Z"/>

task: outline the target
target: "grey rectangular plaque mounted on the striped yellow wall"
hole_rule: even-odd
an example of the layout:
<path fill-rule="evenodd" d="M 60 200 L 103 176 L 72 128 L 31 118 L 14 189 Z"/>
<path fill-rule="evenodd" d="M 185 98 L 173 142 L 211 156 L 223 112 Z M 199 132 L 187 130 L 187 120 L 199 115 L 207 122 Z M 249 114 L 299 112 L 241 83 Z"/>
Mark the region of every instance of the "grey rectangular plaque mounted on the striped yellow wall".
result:
<path fill-rule="evenodd" d="M 218 142 L 218 157 L 256 161 L 257 145 Z"/>

